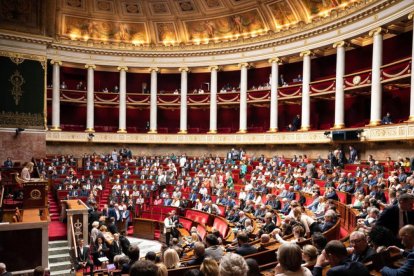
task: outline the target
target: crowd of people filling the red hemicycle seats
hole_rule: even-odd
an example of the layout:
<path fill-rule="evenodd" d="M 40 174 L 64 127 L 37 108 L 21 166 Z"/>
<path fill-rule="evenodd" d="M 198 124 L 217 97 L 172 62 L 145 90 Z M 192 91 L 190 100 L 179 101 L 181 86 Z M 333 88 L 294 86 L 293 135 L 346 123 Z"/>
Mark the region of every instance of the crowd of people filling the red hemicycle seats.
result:
<path fill-rule="evenodd" d="M 85 155 L 81 162 L 85 169 L 84 175 L 81 175 L 77 171 L 77 160 L 72 156 L 56 156 L 51 158 L 50 161 L 46 160 L 46 162 L 39 160 L 36 162 L 36 165 L 48 177 L 53 178 L 53 175 L 56 174 L 56 179 L 59 179 L 61 176 L 64 176 L 62 182 L 59 183 L 58 190 L 59 188 L 60 190 L 76 190 L 78 191 L 78 197 L 81 194 L 80 191 L 86 190 L 88 192 L 88 204 L 91 206 L 92 213 L 99 213 L 97 219 L 91 221 L 91 237 L 93 236 L 95 242 L 98 243 L 98 250 L 100 243 L 106 243 L 104 224 L 107 218 L 111 218 L 110 220 L 114 222 L 114 227 L 108 225 L 108 229 L 114 228 L 112 232 L 115 233 L 115 244 L 121 248 L 121 251 L 118 250 L 117 252 L 122 252 L 129 259 L 123 257 L 115 258 L 117 255 L 123 255 L 113 253 L 117 250 L 115 245 L 108 247 L 108 254 L 111 258 L 113 257 L 118 268 L 124 269 L 124 267 L 129 265 L 131 267 L 131 275 L 134 275 L 134 267 L 135 271 L 142 269 L 138 263 L 143 261 L 136 261 L 139 258 L 134 258 L 135 261 L 131 261 L 133 258 L 129 256 L 131 253 L 127 249 L 127 246 L 122 244 L 120 237 L 117 237 L 119 230 L 127 228 L 118 228 L 116 224 L 126 222 L 126 225 L 128 225 L 128 221 L 130 221 L 131 217 L 137 211 L 137 206 L 139 208 L 145 208 L 148 205 L 147 199 L 151 191 L 161 191 L 160 195 L 162 196 L 159 199 L 181 199 L 179 200 L 180 207 L 183 202 L 188 203 L 188 206 L 192 206 L 193 202 L 197 202 L 200 205 L 200 209 L 215 214 L 221 212 L 218 206 L 225 205 L 226 212 L 222 216 L 227 217 L 229 221 L 233 221 L 238 226 L 237 231 L 240 234 L 236 236 L 233 248 L 223 248 L 223 238 L 218 238 L 213 234 L 207 235 L 205 239 L 206 246 L 204 246 L 199 242 L 200 239 L 197 237 L 197 234 L 194 233 L 194 239 L 191 241 L 195 252 L 194 259 L 184 263 L 185 265 L 192 265 L 192 263 L 204 264 L 203 267 L 205 269 L 214 270 L 215 265 L 211 263 L 211 259 L 213 259 L 220 262 L 219 265 L 216 264 L 220 271 L 222 267 L 227 271 L 230 263 L 232 264 L 232 269 L 236 269 L 233 275 L 239 272 L 241 273 L 240 275 L 245 275 L 243 271 L 246 271 L 246 264 L 240 261 L 240 258 L 234 257 L 245 255 L 243 253 L 246 251 L 244 250 L 245 247 L 249 247 L 248 249 L 252 250 L 251 252 L 260 252 L 260 250 L 265 248 L 262 247 L 260 249 L 261 245 L 277 240 L 282 244 L 278 254 L 282 252 L 280 250 L 284 246 L 291 246 L 293 249 L 288 250 L 288 253 L 296 254 L 294 253 L 294 246 L 296 246 L 296 242 L 303 240 L 306 234 L 306 236 L 312 237 L 311 240 L 314 247 L 303 248 L 303 256 L 300 256 L 299 259 L 299 268 L 302 263 L 306 263 L 306 268 L 312 268 L 315 265 L 313 273 L 314 275 L 320 275 L 319 273 L 322 267 L 329 263 L 331 269 L 328 271 L 328 275 L 336 275 L 336 273 L 340 273 L 344 269 L 358 271 L 356 275 L 365 275 L 366 269 L 362 269 L 364 266 L 361 268 L 359 262 L 362 261 L 365 263 L 369 260 L 373 252 L 388 249 L 389 252 L 398 253 L 397 247 L 393 246 L 393 244 L 398 245 L 399 241 L 392 242 L 392 238 L 387 238 L 389 237 L 387 231 L 399 232 L 399 237 L 404 247 L 407 250 L 412 249 L 412 244 L 410 244 L 408 238 L 404 239 L 404 237 L 410 235 L 409 226 L 411 225 L 409 224 L 413 224 L 411 219 L 413 212 L 412 205 L 414 202 L 412 195 L 414 178 L 410 175 L 412 172 L 412 162 L 407 162 L 404 158 L 398 158 L 397 161 L 389 158 L 386 162 L 378 162 L 371 156 L 368 161 L 363 162 L 359 166 L 359 169 L 353 172 L 345 171 L 341 166 L 348 161 L 346 159 L 347 156 L 350 156 L 350 163 L 355 161 L 355 159 L 351 158 L 352 155 L 355 156 L 355 151 L 356 149 L 350 147 L 348 155 L 344 151 L 336 149 L 330 152 L 326 159 L 318 157 L 319 162 L 314 162 L 306 155 L 295 156 L 292 160 L 287 160 L 284 156 L 270 158 L 263 155 L 249 156 L 242 149 L 232 149 L 225 158 L 218 158 L 211 155 L 190 158 L 185 154 L 180 156 L 170 154 L 168 156 L 135 157 L 131 150 L 122 148 L 121 150 L 114 150 L 110 154 Z M 292 163 L 291 161 L 294 162 Z M 409 159 L 409 161 L 411 160 Z M 309 166 L 309 164 L 313 166 Z M 246 170 L 242 171 L 241 168 L 244 165 L 249 167 L 249 169 L 246 168 Z M 358 167 L 358 164 L 355 166 Z M 62 170 L 62 168 L 65 168 L 65 170 Z M 103 173 L 96 175 L 92 173 L 94 170 L 102 170 Z M 118 176 L 118 171 L 129 173 L 119 173 Z M 242 178 L 238 182 L 234 177 L 235 172 L 240 172 L 239 177 L 250 175 L 250 178 Z M 386 176 L 387 174 L 389 177 Z M 134 179 L 143 181 L 133 182 Z M 323 191 L 321 186 L 315 183 L 315 181 L 319 180 L 324 181 L 327 192 L 321 193 Z M 114 189 L 111 189 L 112 194 L 109 206 L 104 210 L 97 210 L 98 202 L 96 197 L 100 191 L 97 187 L 111 182 L 113 183 L 112 186 Z M 240 183 L 244 185 L 245 189 L 240 190 L 239 193 L 238 189 L 235 190 L 235 184 L 240 185 Z M 308 218 L 306 212 L 304 212 L 306 210 L 300 207 L 303 203 L 301 204 L 296 201 L 295 197 L 290 197 L 292 191 L 291 189 L 286 189 L 286 183 L 293 185 L 291 186 L 293 188 L 293 194 L 298 190 L 301 190 L 303 193 L 313 194 L 312 203 L 308 207 L 313 213 L 319 214 L 322 217 L 319 219 Z M 169 187 L 169 185 L 173 185 L 174 189 L 164 190 L 164 187 Z M 294 188 L 296 185 L 297 189 Z M 349 187 L 352 187 L 352 189 Z M 363 187 L 363 189 L 359 189 L 359 187 Z M 367 187 L 370 190 L 367 190 Z M 388 187 L 390 200 L 387 200 L 387 198 L 384 200 L 382 196 L 384 195 L 386 187 Z M 195 197 L 190 196 L 188 199 L 185 199 L 183 194 L 186 189 L 191 191 Z M 355 196 L 356 202 L 354 202 L 353 206 L 360 212 L 358 230 L 351 234 L 351 247 L 348 249 L 338 243 L 328 244 L 325 248 L 324 243 L 326 241 L 323 241 L 323 235 L 320 234 L 320 231 L 324 232 L 329 230 L 337 221 L 337 213 L 334 204 L 332 204 L 332 200 L 337 200 L 338 198 L 334 197 L 334 199 L 329 199 L 331 194 L 334 195 L 337 193 L 337 190 L 347 191 Z M 244 196 L 239 198 L 241 193 L 244 193 Z M 142 197 L 144 194 L 145 196 Z M 144 198 L 144 201 L 138 201 L 140 196 Z M 93 200 L 93 197 L 95 197 L 95 200 Z M 284 223 L 280 225 L 279 230 L 278 228 L 273 228 L 273 225 L 277 224 L 278 216 L 275 214 L 282 207 L 281 201 L 283 201 L 286 217 Z M 164 200 L 160 202 L 160 204 L 167 205 L 171 203 L 171 201 L 166 203 Z M 263 203 L 266 204 L 262 205 Z M 217 206 L 217 208 L 212 206 Z M 262 210 L 263 206 L 265 207 L 264 214 Z M 127 214 L 126 211 L 129 211 L 131 216 L 125 217 L 124 214 Z M 103 215 L 103 218 L 100 215 Z M 251 215 L 256 215 L 256 223 L 259 224 L 259 227 L 261 225 L 262 230 L 260 235 L 256 236 L 261 241 L 257 247 L 249 244 L 250 234 L 248 233 L 248 229 L 250 227 L 249 223 L 246 224 L 246 222 L 250 220 Z M 321 218 L 324 218 L 324 220 L 319 221 Z M 405 227 L 401 228 L 400 225 L 408 225 L 405 226 L 408 227 L 408 230 L 401 232 Z M 125 227 L 125 224 L 123 226 Z M 401 230 L 398 231 L 400 228 Z M 274 229 L 278 230 L 273 231 Z M 286 239 L 286 236 L 292 232 L 294 233 L 293 239 Z M 375 235 L 372 236 L 372 233 L 375 233 Z M 247 243 L 246 236 L 248 237 Z M 382 238 L 379 239 L 378 237 Z M 117 242 L 118 238 L 119 243 Z M 368 239 L 371 241 L 372 246 L 367 242 Z M 385 243 L 384 241 L 387 242 Z M 181 240 L 178 240 L 178 244 L 181 242 Z M 167 268 L 178 267 L 182 263 L 179 258 L 180 253 L 178 252 L 177 246 L 177 243 L 173 243 L 171 248 L 166 249 L 163 254 L 162 259 Z M 103 248 L 104 246 L 102 245 L 101 247 Z M 343 248 L 345 248 L 345 253 Z M 105 252 L 105 250 L 102 249 L 101 251 Z M 91 254 L 96 251 L 97 249 L 95 247 L 91 247 Z M 225 251 L 234 251 L 236 255 L 229 252 L 226 253 Z M 172 256 L 170 256 L 170 252 L 175 253 L 171 253 Z M 319 255 L 318 261 L 315 259 L 316 254 Z M 176 255 L 178 256 L 178 261 L 175 258 Z M 402 255 L 410 256 L 405 253 Z M 229 259 L 227 260 L 227 258 Z M 171 262 L 170 259 L 172 260 Z M 293 258 L 289 260 L 293 261 Z M 280 267 L 283 268 L 283 262 L 280 259 L 279 263 Z M 100 265 L 102 266 L 102 263 Z M 410 265 L 410 258 L 408 258 L 402 268 L 405 266 L 410 267 Z M 296 268 L 295 263 L 292 269 L 299 271 L 299 269 L 295 270 Z M 157 267 L 156 269 L 158 271 L 160 268 Z M 287 273 L 281 275 L 293 275 L 289 274 L 290 269 L 283 269 L 281 272 L 276 269 L 276 272 Z M 303 274 L 298 275 L 307 275 L 305 274 L 307 273 L 306 270 L 301 269 L 300 271 Z M 385 273 L 384 271 L 387 271 L 387 268 L 384 268 L 383 273 Z M 384 275 L 399 275 L 392 274 L 392 272 L 389 273 Z"/>

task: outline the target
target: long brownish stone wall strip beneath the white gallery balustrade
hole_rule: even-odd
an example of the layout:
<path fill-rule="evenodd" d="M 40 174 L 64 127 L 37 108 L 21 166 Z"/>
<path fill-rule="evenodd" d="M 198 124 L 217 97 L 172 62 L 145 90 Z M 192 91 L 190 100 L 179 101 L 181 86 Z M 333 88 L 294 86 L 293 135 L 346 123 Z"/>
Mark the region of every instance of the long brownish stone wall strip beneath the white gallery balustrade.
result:
<path fill-rule="evenodd" d="M 48 154 L 74 154 L 81 156 L 84 153 L 96 152 L 98 154 L 109 153 L 114 148 L 119 149 L 122 144 L 98 144 L 98 143 L 47 143 Z M 165 155 L 186 153 L 188 156 L 200 156 L 203 154 L 213 156 L 226 156 L 232 146 L 226 145 L 137 145 L 127 144 L 134 155 Z M 377 160 L 385 160 L 387 156 L 393 159 L 398 157 L 414 157 L 412 145 L 408 142 L 380 142 L 380 143 L 357 143 L 354 144 L 359 151 L 361 159 L 366 160 L 368 154 L 372 154 Z M 294 154 L 306 154 L 309 158 L 317 158 L 321 155 L 326 158 L 328 151 L 342 147 L 348 154 L 348 144 L 322 144 L 322 145 L 251 145 L 243 146 L 249 156 L 284 155 L 287 158 Z"/>

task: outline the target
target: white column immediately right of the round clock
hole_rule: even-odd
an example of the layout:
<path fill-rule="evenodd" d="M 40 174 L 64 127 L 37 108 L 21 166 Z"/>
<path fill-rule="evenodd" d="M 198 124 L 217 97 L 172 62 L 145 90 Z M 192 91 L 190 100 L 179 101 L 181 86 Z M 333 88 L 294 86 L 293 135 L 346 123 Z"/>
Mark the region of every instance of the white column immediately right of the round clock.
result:
<path fill-rule="evenodd" d="M 381 27 L 369 32 L 373 37 L 372 51 L 372 83 L 371 83 L 371 117 L 369 126 L 381 124 L 381 102 L 382 102 L 382 85 L 381 85 L 381 65 L 382 65 L 382 33 Z"/>

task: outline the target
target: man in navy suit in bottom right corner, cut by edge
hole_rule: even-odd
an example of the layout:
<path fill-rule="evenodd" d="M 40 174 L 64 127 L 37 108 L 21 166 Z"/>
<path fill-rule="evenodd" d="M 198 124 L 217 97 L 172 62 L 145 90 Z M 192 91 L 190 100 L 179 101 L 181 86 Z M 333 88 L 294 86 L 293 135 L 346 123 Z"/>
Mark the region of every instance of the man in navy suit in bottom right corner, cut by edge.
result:
<path fill-rule="evenodd" d="M 381 274 L 384 276 L 398 276 L 398 275 L 413 275 L 414 271 L 414 225 L 406 225 L 401 228 L 399 232 L 401 243 L 406 250 L 398 248 L 396 246 L 390 246 L 387 250 L 392 252 L 399 252 L 406 258 L 404 264 L 399 268 L 384 267 L 381 270 Z"/>

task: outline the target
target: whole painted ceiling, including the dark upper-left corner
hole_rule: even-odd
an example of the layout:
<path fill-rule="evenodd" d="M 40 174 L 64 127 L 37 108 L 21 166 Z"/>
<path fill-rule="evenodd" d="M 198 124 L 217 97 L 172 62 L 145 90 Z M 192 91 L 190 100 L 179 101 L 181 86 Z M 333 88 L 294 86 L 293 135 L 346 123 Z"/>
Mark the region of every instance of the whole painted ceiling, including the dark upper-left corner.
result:
<path fill-rule="evenodd" d="M 288 35 L 377 0 L 5 0 L 0 27 L 89 46 L 185 46 Z M 38 27 L 36 29 L 36 26 Z"/>

